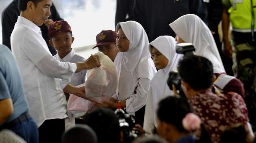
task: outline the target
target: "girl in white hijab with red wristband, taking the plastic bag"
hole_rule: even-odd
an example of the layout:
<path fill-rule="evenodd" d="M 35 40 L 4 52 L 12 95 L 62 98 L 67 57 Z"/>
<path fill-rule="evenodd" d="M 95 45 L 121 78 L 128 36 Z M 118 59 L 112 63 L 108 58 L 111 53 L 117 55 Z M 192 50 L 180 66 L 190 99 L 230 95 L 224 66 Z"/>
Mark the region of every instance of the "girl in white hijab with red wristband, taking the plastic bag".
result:
<path fill-rule="evenodd" d="M 113 98 L 119 102 L 112 102 L 115 100 L 111 98 L 107 104 L 111 108 L 125 107 L 126 112 L 135 114 L 135 121 L 143 125 L 143 109 L 149 83 L 156 73 L 148 50 L 149 40 L 142 25 L 135 21 L 120 22 L 116 30 L 116 46 L 119 52 L 114 64 L 118 75 L 118 88 Z"/>

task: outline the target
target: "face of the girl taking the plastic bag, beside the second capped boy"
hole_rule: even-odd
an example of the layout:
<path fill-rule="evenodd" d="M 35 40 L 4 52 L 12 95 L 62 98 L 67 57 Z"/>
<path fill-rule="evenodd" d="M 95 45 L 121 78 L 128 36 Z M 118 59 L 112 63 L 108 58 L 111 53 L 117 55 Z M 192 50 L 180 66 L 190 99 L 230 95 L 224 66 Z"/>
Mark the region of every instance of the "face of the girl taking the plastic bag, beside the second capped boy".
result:
<path fill-rule="evenodd" d="M 121 28 L 118 29 L 116 34 L 116 46 L 119 52 L 126 52 L 129 50 L 130 41 L 126 38 Z"/>

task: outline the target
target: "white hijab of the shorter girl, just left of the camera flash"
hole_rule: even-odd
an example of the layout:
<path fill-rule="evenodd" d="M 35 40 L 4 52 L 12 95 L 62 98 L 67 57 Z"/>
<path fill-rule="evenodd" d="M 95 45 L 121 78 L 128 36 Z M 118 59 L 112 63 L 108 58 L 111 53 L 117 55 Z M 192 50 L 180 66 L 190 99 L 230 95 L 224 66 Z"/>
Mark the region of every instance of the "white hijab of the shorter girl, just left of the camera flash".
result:
<path fill-rule="evenodd" d="M 156 108 L 158 102 L 163 98 L 173 95 L 173 91 L 170 90 L 167 85 L 167 79 L 169 77 L 169 72 L 177 70 L 178 61 L 183 56 L 182 54 L 177 54 L 175 50 L 176 41 L 171 36 L 160 36 L 150 43 L 159 52 L 161 52 L 167 59 L 168 64 L 165 68 L 160 69 L 156 72 L 156 75 L 150 82 L 151 92 L 152 92 L 152 107 L 154 115 L 154 125 L 156 125 Z M 151 52 L 152 47 L 149 46 Z"/>

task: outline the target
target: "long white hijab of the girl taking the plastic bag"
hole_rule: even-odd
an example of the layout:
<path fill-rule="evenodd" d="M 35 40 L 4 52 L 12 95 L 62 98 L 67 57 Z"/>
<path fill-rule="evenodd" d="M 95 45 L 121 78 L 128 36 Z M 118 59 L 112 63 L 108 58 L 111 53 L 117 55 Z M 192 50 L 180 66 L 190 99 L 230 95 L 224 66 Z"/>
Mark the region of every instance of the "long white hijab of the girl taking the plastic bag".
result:
<path fill-rule="evenodd" d="M 120 22 L 116 29 L 122 28 L 125 36 L 130 41 L 126 52 L 118 52 L 114 64 L 118 75 L 119 100 L 129 98 L 138 86 L 139 78 L 151 80 L 156 69 L 149 53 L 149 40 L 140 23 L 135 21 Z"/>

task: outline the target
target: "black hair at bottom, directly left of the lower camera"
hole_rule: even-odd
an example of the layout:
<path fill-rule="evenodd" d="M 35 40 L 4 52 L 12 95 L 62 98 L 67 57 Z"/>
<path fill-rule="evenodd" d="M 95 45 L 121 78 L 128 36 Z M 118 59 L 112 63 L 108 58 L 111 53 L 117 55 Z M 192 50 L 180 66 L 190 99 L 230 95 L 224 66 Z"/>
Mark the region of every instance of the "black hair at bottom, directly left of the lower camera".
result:
<path fill-rule="evenodd" d="M 96 132 L 98 143 L 120 143 L 121 129 L 113 110 L 97 107 L 87 113 L 84 123 Z"/>

